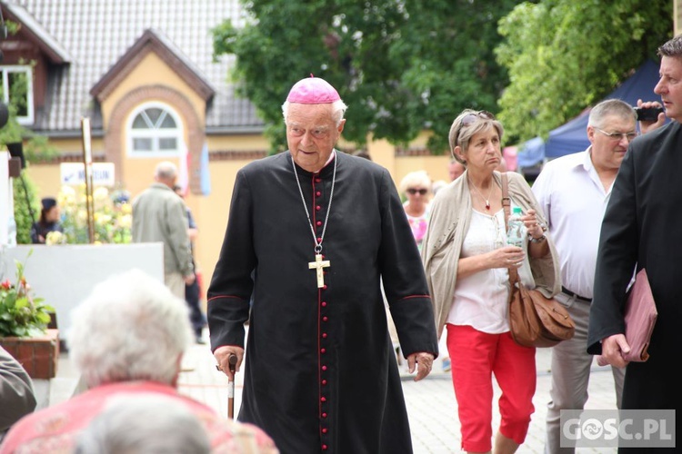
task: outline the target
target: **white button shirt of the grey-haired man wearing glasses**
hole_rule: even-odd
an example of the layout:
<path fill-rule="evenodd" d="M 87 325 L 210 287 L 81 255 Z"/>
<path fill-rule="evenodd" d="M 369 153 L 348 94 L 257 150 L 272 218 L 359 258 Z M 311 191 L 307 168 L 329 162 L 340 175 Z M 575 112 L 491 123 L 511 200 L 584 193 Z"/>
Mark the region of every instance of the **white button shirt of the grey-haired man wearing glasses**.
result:
<path fill-rule="evenodd" d="M 546 163 L 532 187 L 557 246 L 563 285 L 585 298 L 592 298 L 601 223 L 613 187 L 604 190 L 591 151 L 590 146 Z"/>

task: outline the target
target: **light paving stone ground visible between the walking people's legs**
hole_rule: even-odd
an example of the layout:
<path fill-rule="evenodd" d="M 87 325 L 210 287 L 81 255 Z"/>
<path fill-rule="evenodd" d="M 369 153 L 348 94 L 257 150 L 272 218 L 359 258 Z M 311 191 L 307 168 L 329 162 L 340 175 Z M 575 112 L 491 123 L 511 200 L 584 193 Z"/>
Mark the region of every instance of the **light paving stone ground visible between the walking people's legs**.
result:
<path fill-rule="evenodd" d="M 180 376 L 179 390 L 205 402 L 226 417 L 227 379 L 222 372 L 216 370 L 215 364 L 216 361 L 206 345 L 193 346 L 183 363 L 184 371 Z M 550 349 L 537 349 L 537 391 L 533 399 L 536 411 L 531 419 L 526 442 L 517 451 L 520 454 L 538 454 L 544 449 L 545 417 L 551 380 L 549 365 Z M 401 370 L 401 376 L 415 454 L 463 452 L 460 449 L 455 392 L 449 372 L 442 371 L 441 363 L 436 361 L 434 371 L 426 380 L 415 382 L 406 370 Z M 241 402 L 242 377 L 241 373 L 236 376 L 235 414 L 238 414 Z M 590 375 L 588 391 L 590 397 L 586 409 L 616 409 L 616 395 L 610 369 L 598 368 L 595 365 Z M 493 432 L 496 432 L 499 424 L 499 412 L 496 408 L 499 394 L 499 389 L 496 388 Z M 616 449 L 577 449 L 576 452 L 609 454 L 615 453 Z"/>

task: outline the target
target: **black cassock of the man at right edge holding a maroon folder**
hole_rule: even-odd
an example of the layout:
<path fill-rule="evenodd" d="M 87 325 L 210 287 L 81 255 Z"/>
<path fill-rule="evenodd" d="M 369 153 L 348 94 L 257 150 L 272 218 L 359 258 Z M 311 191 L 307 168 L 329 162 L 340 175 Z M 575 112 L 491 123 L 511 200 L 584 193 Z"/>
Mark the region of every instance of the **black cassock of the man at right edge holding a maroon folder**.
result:
<path fill-rule="evenodd" d="M 625 332 L 626 289 L 636 265 L 647 269 L 658 318 L 649 360 L 627 366 L 623 409 L 680 410 L 682 127 L 676 122 L 638 137 L 620 166 L 599 237 L 588 352 L 600 353 L 602 339 Z"/>

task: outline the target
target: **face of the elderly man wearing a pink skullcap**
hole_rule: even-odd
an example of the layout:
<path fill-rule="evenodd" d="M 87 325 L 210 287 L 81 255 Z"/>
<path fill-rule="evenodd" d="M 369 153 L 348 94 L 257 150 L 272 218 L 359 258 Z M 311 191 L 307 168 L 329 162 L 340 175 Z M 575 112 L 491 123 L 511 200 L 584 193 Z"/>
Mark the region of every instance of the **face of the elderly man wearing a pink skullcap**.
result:
<path fill-rule="evenodd" d="M 336 126 L 332 104 L 289 104 L 286 143 L 294 162 L 308 172 L 319 171 L 329 159 L 344 123 Z"/>

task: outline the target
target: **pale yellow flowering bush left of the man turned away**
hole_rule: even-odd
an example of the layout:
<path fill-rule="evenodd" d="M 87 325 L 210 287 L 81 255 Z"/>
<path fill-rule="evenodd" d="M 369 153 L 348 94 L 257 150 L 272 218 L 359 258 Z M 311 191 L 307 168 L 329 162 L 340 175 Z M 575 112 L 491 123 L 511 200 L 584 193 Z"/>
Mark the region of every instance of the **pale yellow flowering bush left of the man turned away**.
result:
<path fill-rule="evenodd" d="M 62 228 L 64 238 L 55 238 L 54 244 L 68 242 L 87 243 L 87 206 L 85 184 L 62 186 L 58 195 L 62 209 Z M 124 191 L 110 194 L 105 187 L 98 187 L 93 192 L 93 220 L 95 222 L 95 244 L 128 243 L 132 241 L 132 207 L 129 196 Z"/>

